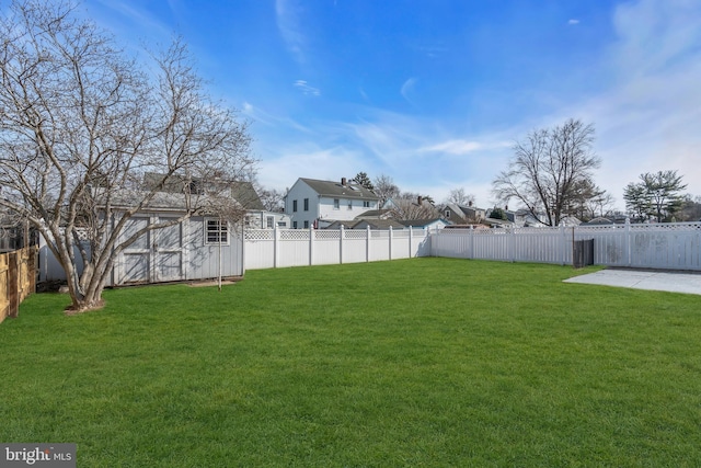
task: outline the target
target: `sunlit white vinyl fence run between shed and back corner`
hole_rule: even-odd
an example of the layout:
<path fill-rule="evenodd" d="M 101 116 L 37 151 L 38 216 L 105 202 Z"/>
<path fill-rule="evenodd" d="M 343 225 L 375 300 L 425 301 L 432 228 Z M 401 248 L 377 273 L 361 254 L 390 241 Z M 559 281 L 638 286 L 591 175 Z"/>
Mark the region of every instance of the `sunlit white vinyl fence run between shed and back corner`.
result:
<path fill-rule="evenodd" d="M 424 229 L 246 229 L 246 270 L 375 262 L 430 255 Z"/>

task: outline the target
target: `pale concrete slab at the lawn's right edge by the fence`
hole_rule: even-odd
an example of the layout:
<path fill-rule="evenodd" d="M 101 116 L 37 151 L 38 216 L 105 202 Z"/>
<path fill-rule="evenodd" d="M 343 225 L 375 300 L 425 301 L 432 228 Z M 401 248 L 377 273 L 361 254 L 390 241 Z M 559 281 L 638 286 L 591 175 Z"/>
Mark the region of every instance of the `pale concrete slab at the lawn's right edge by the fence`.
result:
<path fill-rule="evenodd" d="M 606 269 L 565 279 L 565 283 L 599 284 L 634 289 L 667 290 L 701 295 L 701 273 Z"/>

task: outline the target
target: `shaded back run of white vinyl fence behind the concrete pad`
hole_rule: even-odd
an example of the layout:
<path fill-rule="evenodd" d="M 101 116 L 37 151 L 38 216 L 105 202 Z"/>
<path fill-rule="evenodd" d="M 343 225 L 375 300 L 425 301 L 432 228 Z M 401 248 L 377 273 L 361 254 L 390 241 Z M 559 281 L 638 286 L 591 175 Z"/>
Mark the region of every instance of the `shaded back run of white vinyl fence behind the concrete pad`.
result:
<path fill-rule="evenodd" d="M 430 235 L 430 255 L 566 265 L 573 241 L 589 239 L 597 265 L 701 270 L 701 222 L 441 229 Z"/>

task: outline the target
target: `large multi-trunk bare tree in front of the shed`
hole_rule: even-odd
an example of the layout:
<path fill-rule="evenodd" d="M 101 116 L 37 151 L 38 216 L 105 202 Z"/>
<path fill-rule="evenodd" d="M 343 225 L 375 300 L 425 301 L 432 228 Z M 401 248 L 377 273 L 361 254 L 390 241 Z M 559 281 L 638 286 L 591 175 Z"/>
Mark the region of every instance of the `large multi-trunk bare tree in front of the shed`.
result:
<path fill-rule="evenodd" d="M 72 4 L 33 0 L 12 2 L 0 35 L 0 206 L 47 239 L 73 309 L 100 306 L 115 260 L 147 231 L 241 216 L 222 181 L 254 163 L 246 125 L 205 92 L 180 41 L 142 71 Z M 183 215 L 125 230 L 163 192 Z"/>

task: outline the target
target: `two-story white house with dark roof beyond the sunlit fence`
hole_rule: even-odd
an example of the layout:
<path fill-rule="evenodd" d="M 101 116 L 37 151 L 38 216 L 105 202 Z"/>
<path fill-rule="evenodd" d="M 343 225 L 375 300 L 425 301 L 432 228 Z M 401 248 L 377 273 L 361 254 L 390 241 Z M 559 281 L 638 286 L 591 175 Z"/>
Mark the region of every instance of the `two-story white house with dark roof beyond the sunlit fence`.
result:
<path fill-rule="evenodd" d="M 326 228 L 334 221 L 350 221 L 363 213 L 378 209 L 379 197 L 352 183 L 298 179 L 285 195 L 285 214 L 292 229 Z"/>

